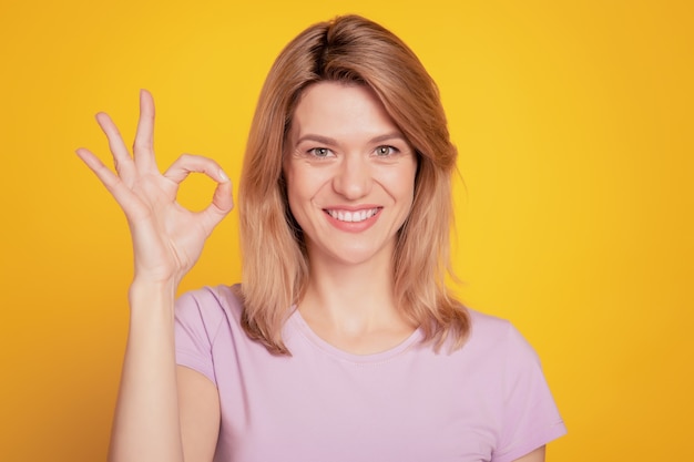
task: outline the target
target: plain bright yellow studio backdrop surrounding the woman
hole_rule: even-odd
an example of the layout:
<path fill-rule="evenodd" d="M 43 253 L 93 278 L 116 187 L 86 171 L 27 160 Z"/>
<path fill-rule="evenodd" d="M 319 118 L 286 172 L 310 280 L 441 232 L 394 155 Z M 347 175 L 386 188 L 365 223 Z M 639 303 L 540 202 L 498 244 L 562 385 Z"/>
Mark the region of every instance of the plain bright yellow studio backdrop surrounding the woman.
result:
<path fill-rule="evenodd" d="M 688 1 L 2 0 L 0 460 L 104 459 L 131 255 L 73 154 L 132 140 L 238 178 L 259 86 L 309 23 L 358 12 L 439 83 L 460 150 L 459 294 L 540 353 L 569 427 L 552 461 L 694 460 L 694 11 Z M 194 178 L 183 202 L 212 185 Z M 239 277 L 237 218 L 184 289 Z"/>

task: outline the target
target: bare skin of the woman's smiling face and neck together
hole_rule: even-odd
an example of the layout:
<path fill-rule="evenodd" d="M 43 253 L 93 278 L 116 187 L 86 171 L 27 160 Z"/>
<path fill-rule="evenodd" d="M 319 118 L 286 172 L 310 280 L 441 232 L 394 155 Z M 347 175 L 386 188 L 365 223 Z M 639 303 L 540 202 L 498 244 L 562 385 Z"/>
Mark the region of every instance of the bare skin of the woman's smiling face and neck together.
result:
<path fill-rule="evenodd" d="M 343 350 L 395 347 L 417 328 L 398 309 L 392 281 L 397 233 L 415 191 L 412 147 L 370 89 L 338 82 L 303 92 L 289 143 L 287 195 L 310 259 L 302 316 Z"/>

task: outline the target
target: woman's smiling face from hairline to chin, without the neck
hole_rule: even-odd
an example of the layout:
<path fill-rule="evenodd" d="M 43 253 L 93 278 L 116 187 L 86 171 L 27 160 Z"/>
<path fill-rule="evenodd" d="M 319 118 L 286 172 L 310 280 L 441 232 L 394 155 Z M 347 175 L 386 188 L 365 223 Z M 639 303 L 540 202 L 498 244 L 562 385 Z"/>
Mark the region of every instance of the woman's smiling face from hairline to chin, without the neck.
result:
<path fill-rule="evenodd" d="M 417 158 L 374 91 L 308 86 L 287 142 L 287 197 L 312 263 L 390 261 L 412 205 Z"/>

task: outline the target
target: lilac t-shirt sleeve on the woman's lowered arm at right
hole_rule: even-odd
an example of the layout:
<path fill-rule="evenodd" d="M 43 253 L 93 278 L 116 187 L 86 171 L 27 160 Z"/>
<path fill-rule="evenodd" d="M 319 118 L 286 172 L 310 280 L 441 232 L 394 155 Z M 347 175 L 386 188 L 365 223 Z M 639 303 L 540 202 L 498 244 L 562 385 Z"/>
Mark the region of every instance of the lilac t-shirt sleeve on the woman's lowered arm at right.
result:
<path fill-rule="evenodd" d="M 567 432 L 538 355 L 512 326 L 508 332 L 502 422 L 492 462 L 514 461 Z"/>

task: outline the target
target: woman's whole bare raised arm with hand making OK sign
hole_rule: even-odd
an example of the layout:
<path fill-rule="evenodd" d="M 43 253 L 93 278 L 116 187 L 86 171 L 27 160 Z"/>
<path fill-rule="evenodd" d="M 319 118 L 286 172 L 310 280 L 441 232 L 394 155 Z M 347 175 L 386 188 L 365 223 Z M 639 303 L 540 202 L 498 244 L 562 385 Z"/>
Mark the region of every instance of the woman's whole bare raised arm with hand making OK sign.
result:
<path fill-rule="evenodd" d="M 159 171 L 154 102 L 146 91 L 140 95 L 132 156 L 111 119 L 100 113 L 96 121 L 109 138 L 115 173 L 85 148 L 76 154 L 125 213 L 135 264 L 109 459 L 210 461 L 218 432 L 218 398 L 207 379 L 175 363 L 173 306 L 178 283 L 233 207 L 232 185 L 217 163 L 200 156 L 183 155 L 163 174 Z M 212 203 L 200 213 L 176 203 L 178 186 L 191 172 L 217 183 Z"/>

